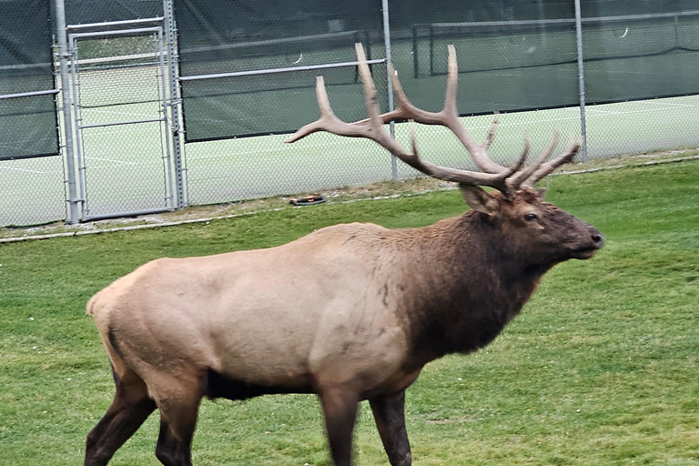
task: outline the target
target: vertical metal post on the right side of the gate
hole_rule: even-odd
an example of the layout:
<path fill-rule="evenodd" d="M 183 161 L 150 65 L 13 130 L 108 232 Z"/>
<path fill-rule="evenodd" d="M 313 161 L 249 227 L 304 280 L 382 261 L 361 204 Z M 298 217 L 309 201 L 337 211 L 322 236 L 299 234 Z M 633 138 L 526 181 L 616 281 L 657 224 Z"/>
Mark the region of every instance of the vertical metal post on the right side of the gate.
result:
<path fill-rule="evenodd" d="M 172 157 L 175 165 L 175 188 L 177 190 L 177 208 L 187 206 L 185 198 L 184 167 L 182 165 L 182 146 L 179 137 L 179 100 L 177 99 L 177 49 L 175 48 L 175 12 L 172 0 L 163 0 L 165 12 L 165 36 L 167 44 L 167 70 L 170 81 L 170 130 L 172 132 Z"/>

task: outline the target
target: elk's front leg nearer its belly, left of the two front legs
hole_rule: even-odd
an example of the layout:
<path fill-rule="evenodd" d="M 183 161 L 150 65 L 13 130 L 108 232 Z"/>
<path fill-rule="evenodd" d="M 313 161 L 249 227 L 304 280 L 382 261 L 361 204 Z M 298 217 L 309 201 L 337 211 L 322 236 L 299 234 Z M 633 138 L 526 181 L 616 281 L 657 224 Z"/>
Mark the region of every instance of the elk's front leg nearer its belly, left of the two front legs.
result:
<path fill-rule="evenodd" d="M 330 454 L 335 466 L 351 466 L 352 431 L 357 420 L 358 397 L 342 390 L 323 390 L 320 395 Z"/>

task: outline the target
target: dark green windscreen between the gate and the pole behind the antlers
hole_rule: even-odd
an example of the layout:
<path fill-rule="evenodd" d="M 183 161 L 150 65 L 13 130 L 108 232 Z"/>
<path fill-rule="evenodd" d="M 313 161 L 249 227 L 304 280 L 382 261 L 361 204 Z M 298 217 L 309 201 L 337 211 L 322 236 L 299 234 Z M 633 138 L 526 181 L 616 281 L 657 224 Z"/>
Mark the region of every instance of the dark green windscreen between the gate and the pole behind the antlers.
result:
<path fill-rule="evenodd" d="M 370 59 L 384 56 L 380 0 L 176 0 L 175 6 L 180 76 L 353 62 L 357 42 Z M 366 115 L 350 108 L 363 108 L 356 66 L 184 80 L 187 142 L 295 131 L 318 117 L 319 74 L 340 117 Z"/>

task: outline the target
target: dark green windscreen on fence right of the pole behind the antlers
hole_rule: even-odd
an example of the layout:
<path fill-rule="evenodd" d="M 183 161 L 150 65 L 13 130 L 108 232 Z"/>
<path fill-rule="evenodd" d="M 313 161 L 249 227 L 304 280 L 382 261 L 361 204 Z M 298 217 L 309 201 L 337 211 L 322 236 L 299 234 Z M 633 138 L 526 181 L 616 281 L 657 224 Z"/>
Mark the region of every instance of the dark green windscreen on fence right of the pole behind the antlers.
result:
<path fill-rule="evenodd" d="M 699 2 L 582 1 L 588 103 L 699 92 Z M 573 2 L 390 4 L 393 56 L 406 91 L 432 110 L 446 75 L 446 46 L 459 56 L 464 114 L 577 106 Z M 442 78 L 443 79 L 443 78 Z M 443 81 L 442 81 L 443 83 Z"/>

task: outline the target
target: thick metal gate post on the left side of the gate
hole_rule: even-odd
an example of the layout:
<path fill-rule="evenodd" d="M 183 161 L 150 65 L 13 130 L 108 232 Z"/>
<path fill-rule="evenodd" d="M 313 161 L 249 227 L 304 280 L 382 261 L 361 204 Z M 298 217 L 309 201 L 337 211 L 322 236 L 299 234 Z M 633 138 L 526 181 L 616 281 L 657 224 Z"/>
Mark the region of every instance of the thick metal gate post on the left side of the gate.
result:
<path fill-rule="evenodd" d="M 68 77 L 68 44 L 66 37 L 66 4 L 56 0 L 56 37 L 58 39 L 58 63 L 61 74 L 61 97 L 63 98 L 63 129 L 66 139 L 66 167 L 68 176 L 68 218 L 67 224 L 77 223 L 78 217 L 76 187 L 76 155 L 73 146 L 73 122 L 70 116 L 70 79 Z"/>

